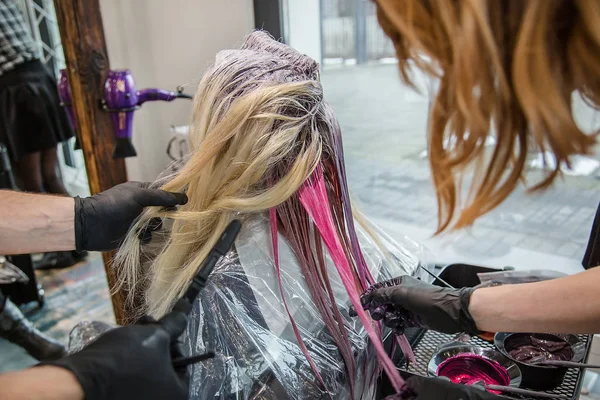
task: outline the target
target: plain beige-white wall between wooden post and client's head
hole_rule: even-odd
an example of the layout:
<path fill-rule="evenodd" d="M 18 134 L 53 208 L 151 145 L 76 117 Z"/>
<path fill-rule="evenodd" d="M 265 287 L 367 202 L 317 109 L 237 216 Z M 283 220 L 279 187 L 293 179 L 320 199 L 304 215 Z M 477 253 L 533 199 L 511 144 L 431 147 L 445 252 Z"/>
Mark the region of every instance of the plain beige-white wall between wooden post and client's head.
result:
<path fill-rule="evenodd" d="M 101 0 L 111 68 L 132 71 L 138 89 L 175 90 L 199 78 L 222 49 L 238 47 L 254 27 L 252 0 Z M 191 102 L 146 103 L 136 111 L 130 180 L 151 181 L 168 164 L 169 126 L 186 124 Z"/>

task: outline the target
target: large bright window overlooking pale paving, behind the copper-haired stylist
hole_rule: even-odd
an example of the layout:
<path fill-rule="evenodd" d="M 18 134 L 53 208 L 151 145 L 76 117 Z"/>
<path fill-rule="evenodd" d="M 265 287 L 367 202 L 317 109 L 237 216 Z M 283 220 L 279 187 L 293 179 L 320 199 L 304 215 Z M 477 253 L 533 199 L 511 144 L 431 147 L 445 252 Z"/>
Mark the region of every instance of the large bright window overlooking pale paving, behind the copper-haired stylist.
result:
<path fill-rule="evenodd" d="M 320 58 L 325 99 L 342 126 L 350 189 L 372 220 L 393 236 L 425 244 L 429 262 L 581 270 L 600 200 L 597 156 L 576 158 L 574 169 L 542 194 L 529 195 L 520 187 L 471 229 L 432 237 L 437 206 L 425 150 L 435 82 L 417 75 L 420 93 L 400 82 L 393 46 L 377 23 L 373 2 L 285 3 L 286 41 Z M 306 43 L 314 32 L 319 41 Z M 598 129 L 596 111 L 579 99 L 574 107 L 583 128 Z M 540 155 L 529 157 L 535 182 L 542 172 Z"/>

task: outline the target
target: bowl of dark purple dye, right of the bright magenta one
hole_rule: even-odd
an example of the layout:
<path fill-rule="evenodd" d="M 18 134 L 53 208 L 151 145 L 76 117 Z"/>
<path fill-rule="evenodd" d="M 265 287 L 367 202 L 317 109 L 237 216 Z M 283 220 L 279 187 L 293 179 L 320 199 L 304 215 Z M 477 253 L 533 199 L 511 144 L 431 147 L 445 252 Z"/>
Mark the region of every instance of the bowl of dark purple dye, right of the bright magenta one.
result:
<path fill-rule="evenodd" d="M 521 386 L 534 390 L 560 386 L 568 370 L 534 363 L 545 360 L 581 362 L 585 357 L 585 344 L 570 334 L 498 332 L 494 345 L 521 369 Z"/>

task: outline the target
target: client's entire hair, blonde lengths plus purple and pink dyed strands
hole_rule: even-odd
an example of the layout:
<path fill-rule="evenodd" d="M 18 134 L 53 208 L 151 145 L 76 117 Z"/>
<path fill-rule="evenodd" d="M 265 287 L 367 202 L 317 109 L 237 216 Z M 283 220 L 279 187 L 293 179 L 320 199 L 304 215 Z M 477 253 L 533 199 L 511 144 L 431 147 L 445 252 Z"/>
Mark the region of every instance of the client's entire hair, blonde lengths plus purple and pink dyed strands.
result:
<path fill-rule="evenodd" d="M 135 295 L 144 293 L 139 312 L 155 317 L 168 312 L 232 218 L 243 222 L 268 211 L 275 265 L 278 269 L 279 232 L 296 255 L 311 297 L 340 351 L 353 395 L 357 366 L 327 275 L 323 240 L 383 367 L 399 387 L 401 378 L 381 347 L 380 332 L 359 304 L 358 296 L 373 278 L 356 237 L 353 214 L 357 212 L 346 187 L 340 128 L 323 101 L 318 64 L 263 32 L 253 33 L 241 50 L 219 53 L 204 75 L 194 97 L 190 139 L 191 159 L 162 187 L 187 191 L 189 202 L 175 212 L 145 211 L 117 255 L 117 273 L 130 300 L 135 302 Z M 325 189 L 326 197 L 320 201 L 314 198 L 317 192 L 309 190 L 315 181 Z M 315 210 L 331 219 L 316 226 Z M 166 244 L 144 271 L 138 232 L 156 217 L 173 220 L 173 226 Z M 334 256 L 329 243 L 336 241 Z M 285 287 L 280 289 L 287 309 Z M 291 315 L 290 320 L 301 349 L 325 386 Z"/>

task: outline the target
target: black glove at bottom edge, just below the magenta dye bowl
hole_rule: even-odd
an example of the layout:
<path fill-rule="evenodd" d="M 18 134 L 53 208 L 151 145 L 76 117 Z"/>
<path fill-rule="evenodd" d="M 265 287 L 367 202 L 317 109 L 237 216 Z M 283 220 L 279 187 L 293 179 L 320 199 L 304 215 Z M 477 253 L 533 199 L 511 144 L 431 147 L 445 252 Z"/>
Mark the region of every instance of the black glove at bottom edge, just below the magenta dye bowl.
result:
<path fill-rule="evenodd" d="M 472 386 L 456 385 L 447 379 L 412 376 L 402 394 L 386 400 L 509 400 Z"/>

